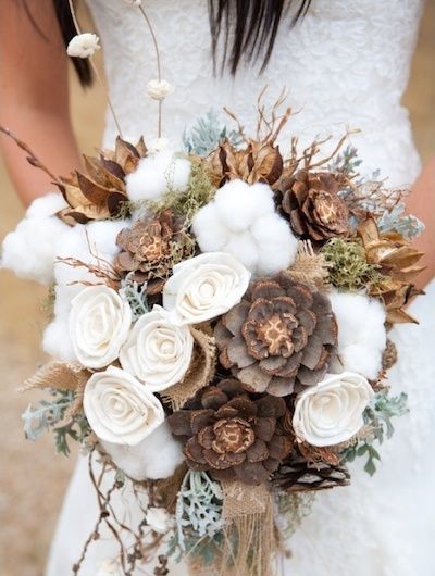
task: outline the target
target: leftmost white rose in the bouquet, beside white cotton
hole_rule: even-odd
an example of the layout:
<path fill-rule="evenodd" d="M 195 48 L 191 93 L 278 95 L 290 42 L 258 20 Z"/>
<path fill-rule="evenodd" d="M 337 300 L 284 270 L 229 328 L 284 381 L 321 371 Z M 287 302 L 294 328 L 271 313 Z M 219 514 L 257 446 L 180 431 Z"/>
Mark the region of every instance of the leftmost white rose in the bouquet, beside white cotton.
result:
<path fill-rule="evenodd" d="M 117 359 L 128 337 L 132 309 L 108 286 L 91 286 L 71 303 L 69 331 L 78 362 L 103 368 Z"/>

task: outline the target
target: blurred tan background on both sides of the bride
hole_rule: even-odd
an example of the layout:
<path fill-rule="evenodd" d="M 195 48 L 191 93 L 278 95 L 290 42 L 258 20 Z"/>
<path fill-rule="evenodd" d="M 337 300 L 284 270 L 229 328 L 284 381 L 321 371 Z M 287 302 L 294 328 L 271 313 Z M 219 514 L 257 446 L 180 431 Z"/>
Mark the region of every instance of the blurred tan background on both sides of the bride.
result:
<path fill-rule="evenodd" d="M 423 161 L 435 155 L 435 2 L 426 2 L 405 98 Z M 103 127 L 104 97 L 82 90 L 71 74 L 72 115 L 80 150 L 92 152 Z M 0 159 L 0 240 L 23 215 Z M 0 273 L 0 576 L 41 576 L 62 496 L 74 466 L 54 455 L 52 438 L 24 439 L 21 414 L 35 395 L 17 392 L 45 358 L 39 345 L 46 289 Z M 64 575 L 59 575 L 64 576 Z"/>

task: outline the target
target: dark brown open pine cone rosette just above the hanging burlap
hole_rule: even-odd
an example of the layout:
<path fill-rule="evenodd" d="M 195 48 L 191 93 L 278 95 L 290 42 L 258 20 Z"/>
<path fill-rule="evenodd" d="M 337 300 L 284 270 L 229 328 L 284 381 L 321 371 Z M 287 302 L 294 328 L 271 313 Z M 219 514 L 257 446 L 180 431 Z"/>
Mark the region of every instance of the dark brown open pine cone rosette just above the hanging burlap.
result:
<path fill-rule="evenodd" d="M 250 398 L 240 383 L 228 379 L 198 392 L 189 405 L 169 417 L 174 436 L 185 443 L 187 464 L 219 480 L 268 481 L 290 452 L 294 440 L 281 426 L 282 398 Z"/>

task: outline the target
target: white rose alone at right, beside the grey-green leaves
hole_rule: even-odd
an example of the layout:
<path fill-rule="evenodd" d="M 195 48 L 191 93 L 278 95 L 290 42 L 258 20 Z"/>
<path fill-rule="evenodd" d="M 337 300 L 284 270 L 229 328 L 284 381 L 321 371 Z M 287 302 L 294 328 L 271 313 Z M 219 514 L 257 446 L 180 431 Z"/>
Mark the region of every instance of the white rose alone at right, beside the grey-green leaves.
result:
<path fill-rule="evenodd" d="M 300 393 L 293 425 L 297 438 L 324 447 L 346 442 L 364 425 L 363 413 L 374 392 L 360 374 L 330 374 Z"/>

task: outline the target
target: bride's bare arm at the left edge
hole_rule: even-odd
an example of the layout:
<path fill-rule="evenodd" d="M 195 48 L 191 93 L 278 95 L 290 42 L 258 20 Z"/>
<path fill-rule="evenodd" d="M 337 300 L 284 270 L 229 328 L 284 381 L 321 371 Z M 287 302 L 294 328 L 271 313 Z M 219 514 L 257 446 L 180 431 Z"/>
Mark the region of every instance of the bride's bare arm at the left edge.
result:
<path fill-rule="evenodd" d="M 67 175 L 79 158 L 70 122 L 67 57 L 52 0 L 0 0 L 0 125 L 25 140 L 54 174 Z M 14 142 L 1 136 L 0 147 L 25 204 L 52 189 Z"/>

